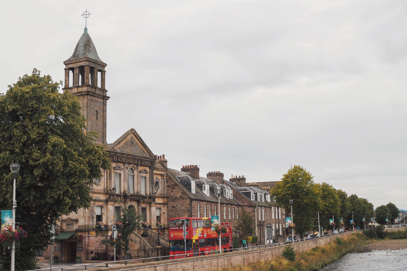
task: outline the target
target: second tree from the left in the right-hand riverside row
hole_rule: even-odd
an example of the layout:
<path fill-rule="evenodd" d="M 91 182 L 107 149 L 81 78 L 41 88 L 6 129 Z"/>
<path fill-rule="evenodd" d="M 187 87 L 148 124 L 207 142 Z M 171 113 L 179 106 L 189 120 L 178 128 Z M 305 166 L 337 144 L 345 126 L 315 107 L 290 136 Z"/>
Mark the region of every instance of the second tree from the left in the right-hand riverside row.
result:
<path fill-rule="evenodd" d="M 316 184 L 319 191 L 319 221 L 324 229 L 327 229 L 329 220 L 334 216 L 335 224 L 338 224 L 340 215 L 340 199 L 336 189 L 327 183 Z M 337 227 L 336 227 L 337 228 Z"/>

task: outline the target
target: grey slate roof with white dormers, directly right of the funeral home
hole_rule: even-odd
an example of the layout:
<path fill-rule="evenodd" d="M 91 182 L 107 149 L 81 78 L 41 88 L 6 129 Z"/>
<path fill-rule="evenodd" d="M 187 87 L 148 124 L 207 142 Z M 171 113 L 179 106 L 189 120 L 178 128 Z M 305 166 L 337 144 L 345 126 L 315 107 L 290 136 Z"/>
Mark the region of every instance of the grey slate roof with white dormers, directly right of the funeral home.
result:
<path fill-rule="evenodd" d="M 194 180 L 191 175 L 187 172 L 179 171 L 176 169 L 167 169 L 167 174 L 175 181 L 177 182 L 180 187 L 185 191 L 186 194 L 192 199 L 195 200 L 202 200 L 202 201 L 212 201 L 214 203 L 218 203 L 218 196 L 215 195 L 214 193 L 214 187 L 222 187 L 225 185 L 219 185 L 215 182 L 213 179 L 208 179 L 204 177 L 199 177 L 198 180 Z M 191 180 L 194 180 L 195 182 L 195 194 L 191 192 Z M 209 185 L 209 196 L 207 196 L 203 191 L 198 188 L 197 185 L 202 185 L 202 184 L 207 184 Z M 227 187 L 227 186 L 225 186 Z M 220 196 L 220 202 L 224 204 L 236 204 L 236 205 L 242 205 L 239 201 L 237 201 L 235 198 L 233 199 L 227 199 L 226 197 L 223 196 L 223 193 Z"/>

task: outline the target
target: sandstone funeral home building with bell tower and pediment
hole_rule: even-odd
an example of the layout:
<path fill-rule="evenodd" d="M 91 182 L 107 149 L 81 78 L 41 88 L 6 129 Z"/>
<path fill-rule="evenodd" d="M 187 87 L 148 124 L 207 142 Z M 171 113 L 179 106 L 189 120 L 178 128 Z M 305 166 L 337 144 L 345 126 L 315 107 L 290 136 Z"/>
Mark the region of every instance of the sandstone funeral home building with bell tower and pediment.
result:
<path fill-rule="evenodd" d="M 142 221 L 148 221 L 153 225 L 153 229 L 157 222 L 167 221 L 167 160 L 164 155 L 154 155 L 134 129 L 128 130 L 115 142 L 107 143 L 107 64 L 100 59 L 86 27 L 72 56 L 64 65 L 63 89 L 78 98 L 86 118 L 85 132 L 99 133 L 96 142 L 106 147 L 112 168 L 104 170 L 103 176 L 94 180 L 90 208 L 61 217 L 55 227 L 58 236 L 52 254 L 57 255 L 62 262 L 75 261 L 76 256 L 85 260 L 94 257 L 93 255 L 110 260 L 110 255 L 98 254 L 97 251 L 108 249 L 105 245 L 100 245 L 100 242 L 110 237 L 112 225 L 115 217 L 121 212 L 121 206 L 134 206 L 138 214 L 142 215 Z M 104 223 L 106 230 L 96 231 L 97 222 Z M 83 241 L 76 242 L 73 238 L 75 233 L 81 233 L 84 236 Z M 139 236 L 134 238 L 137 237 Z M 139 248 L 134 243 L 131 244 Z M 139 240 L 138 244 L 143 244 L 142 240 Z M 49 250 L 44 252 L 44 256 L 49 256 Z"/>

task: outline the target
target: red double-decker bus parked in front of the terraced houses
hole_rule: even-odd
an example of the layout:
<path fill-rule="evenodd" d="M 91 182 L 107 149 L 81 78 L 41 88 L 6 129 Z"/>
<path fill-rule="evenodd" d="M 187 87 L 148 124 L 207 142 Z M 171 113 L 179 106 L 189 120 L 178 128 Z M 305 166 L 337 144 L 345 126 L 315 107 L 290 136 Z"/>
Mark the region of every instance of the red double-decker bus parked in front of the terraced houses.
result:
<path fill-rule="evenodd" d="M 184 242 L 183 225 L 186 225 Z M 230 223 L 221 223 L 227 229 L 221 234 L 222 252 L 231 251 L 232 228 Z M 210 218 L 171 218 L 169 220 L 170 259 L 215 254 L 219 251 L 219 235 L 212 230 Z M 186 244 L 185 244 L 186 243 Z"/>

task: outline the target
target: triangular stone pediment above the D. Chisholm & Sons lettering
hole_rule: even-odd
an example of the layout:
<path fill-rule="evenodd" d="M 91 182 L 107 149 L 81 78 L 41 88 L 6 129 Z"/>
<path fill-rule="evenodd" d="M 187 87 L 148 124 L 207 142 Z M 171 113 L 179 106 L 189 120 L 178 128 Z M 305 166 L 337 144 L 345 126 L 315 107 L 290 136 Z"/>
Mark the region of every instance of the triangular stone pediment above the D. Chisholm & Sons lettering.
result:
<path fill-rule="evenodd" d="M 156 160 L 155 155 L 150 148 L 144 143 L 136 130 L 130 129 L 114 143 L 106 148 L 107 152 L 133 157 L 141 157 Z"/>

